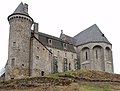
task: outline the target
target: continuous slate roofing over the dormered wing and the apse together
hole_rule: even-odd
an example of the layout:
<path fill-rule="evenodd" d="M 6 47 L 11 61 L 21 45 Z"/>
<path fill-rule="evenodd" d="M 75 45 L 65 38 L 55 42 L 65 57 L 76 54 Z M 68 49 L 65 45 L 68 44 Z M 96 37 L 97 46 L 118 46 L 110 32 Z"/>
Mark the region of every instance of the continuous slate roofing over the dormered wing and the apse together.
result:
<path fill-rule="evenodd" d="M 66 50 L 75 52 L 74 46 L 86 44 L 86 43 L 98 43 L 104 42 L 111 44 L 104 34 L 100 31 L 96 24 L 91 27 L 85 29 L 74 37 L 67 36 L 65 34 L 61 35 L 63 37 L 54 37 L 45 33 L 39 32 L 39 40 L 45 45 L 53 48 L 57 48 L 60 50 Z M 49 45 L 48 39 L 52 39 L 52 45 Z M 64 40 L 65 39 L 65 40 Z M 63 43 L 67 44 L 67 48 L 64 49 Z"/>

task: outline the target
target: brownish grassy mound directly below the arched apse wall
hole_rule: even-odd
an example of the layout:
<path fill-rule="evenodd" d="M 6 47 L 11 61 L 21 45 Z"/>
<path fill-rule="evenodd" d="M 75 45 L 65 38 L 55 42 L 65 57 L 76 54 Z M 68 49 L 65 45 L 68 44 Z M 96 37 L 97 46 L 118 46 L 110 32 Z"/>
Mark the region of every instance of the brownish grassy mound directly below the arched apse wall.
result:
<path fill-rule="evenodd" d="M 77 77 L 79 79 L 87 79 L 87 80 L 102 80 L 102 81 L 116 81 L 120 82 L 120 75 L 119 74 L 112 74 L 102 71 L 95 71 L 95 70 L 76 70 L 71 72 L 62 72 L 48 75 L 48 77 L 52 78 L 59 78 L 64 76 L 71 76 Z"/>

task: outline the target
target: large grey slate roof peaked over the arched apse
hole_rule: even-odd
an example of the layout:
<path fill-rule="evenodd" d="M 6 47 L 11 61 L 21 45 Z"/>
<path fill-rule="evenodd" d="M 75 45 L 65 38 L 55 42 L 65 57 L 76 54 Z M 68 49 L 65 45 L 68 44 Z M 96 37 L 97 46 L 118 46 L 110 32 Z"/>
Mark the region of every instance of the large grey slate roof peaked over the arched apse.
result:
<path fill-rule="evenodd" d="M 76 45 L 90 42 L 105 42 L 111 44 L 96 24 L 74 36 L 74 39 L 76 40 Z"/>

